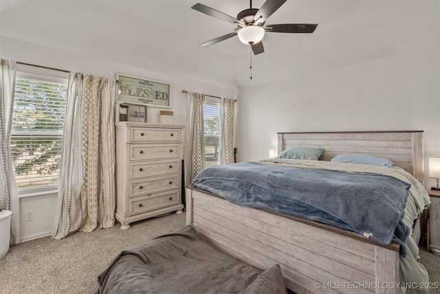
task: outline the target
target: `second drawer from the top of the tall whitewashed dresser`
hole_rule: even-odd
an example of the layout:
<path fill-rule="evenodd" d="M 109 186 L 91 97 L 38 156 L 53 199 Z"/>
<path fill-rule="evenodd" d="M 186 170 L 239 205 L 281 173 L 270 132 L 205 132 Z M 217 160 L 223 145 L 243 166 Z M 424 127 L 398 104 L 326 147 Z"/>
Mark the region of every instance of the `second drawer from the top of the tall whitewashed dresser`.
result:
<path fill-rule="evenodd" d="M 179 158 L 180 144 L 130 145 L 130 160 Z"/>

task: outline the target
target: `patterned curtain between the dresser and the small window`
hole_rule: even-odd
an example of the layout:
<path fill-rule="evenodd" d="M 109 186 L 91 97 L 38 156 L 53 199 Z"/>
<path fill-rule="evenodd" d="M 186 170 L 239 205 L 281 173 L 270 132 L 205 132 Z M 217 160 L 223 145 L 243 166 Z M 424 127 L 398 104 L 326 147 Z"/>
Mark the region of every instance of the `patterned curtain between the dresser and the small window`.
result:
<path fill-rule="evenodd" d="M 203 131 L 203 102 L 205 95 L 188 92 L 186 97 L 186 151 L 185 151 L 185 183 L 192 179 L 205 167 L 205 148 Z"/>

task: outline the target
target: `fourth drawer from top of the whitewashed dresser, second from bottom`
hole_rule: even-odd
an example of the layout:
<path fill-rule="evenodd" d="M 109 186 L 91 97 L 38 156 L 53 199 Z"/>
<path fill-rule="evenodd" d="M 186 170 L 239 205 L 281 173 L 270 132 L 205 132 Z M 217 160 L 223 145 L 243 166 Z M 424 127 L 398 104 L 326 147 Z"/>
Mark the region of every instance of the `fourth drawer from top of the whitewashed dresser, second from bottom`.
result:
<path fill-rule="evenodd" d="M 180 187 L 180 175 L 142 178 L 129 182 L 129 197 L 140 196 L 146 193 L 163 191 L 164 189 L 178 189 Z"/>

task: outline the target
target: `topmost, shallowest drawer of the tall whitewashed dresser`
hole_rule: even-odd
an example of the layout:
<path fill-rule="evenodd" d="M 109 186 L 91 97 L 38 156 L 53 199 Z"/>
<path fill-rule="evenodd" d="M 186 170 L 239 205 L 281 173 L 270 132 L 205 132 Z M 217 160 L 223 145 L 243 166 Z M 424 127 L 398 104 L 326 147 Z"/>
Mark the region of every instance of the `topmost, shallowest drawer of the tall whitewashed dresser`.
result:
<path fill-rule="evenodd" d="M 146 129 L 143 127 L 132 127 L 130 140 L 132 142 L 180 141 L 180 131 L 180 129 Z"/>

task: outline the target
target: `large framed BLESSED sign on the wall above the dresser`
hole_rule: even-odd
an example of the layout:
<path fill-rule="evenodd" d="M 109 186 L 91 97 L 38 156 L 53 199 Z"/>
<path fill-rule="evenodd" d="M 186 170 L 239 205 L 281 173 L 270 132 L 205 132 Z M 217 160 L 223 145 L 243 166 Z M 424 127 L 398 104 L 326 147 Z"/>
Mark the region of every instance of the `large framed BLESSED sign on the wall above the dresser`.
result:
<path fill-rule="evenodd" d="M 171 85 L 140 76 L 116 73 L 118 103 L 132 103 L 151 107 L 170 108 Z"/>

